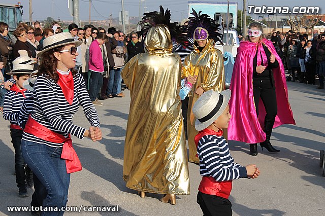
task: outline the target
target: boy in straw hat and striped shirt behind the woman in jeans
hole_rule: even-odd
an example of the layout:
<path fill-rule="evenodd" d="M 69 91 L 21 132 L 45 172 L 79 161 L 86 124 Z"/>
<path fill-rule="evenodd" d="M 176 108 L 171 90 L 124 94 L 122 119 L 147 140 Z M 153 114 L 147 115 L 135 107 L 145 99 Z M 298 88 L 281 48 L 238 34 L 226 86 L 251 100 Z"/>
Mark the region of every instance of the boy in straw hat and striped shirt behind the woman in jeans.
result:
<path fill-rule="evenodd" d="M 28 196 L 27 185 L 29 187 L 34 186 L 31 170 L 28 166 L 25 169 L 25 160 L 20 150 L 23 130 L 17 123 L 18 113 L 24 99 L 31 96 L 31 91 L 24 89 L 23 83 L 29 78 L 33 67 L 31 64 L 15 63 L 12 71 L 7 73 L 8 75 L 13 75 L 16 82 L 11 86 L 10 91 L 5 96 L 3 117 L 5 120 L 10 121 L 10 135 L 15 149 L 15 171 L 19 197 Z"/>

